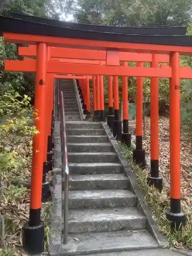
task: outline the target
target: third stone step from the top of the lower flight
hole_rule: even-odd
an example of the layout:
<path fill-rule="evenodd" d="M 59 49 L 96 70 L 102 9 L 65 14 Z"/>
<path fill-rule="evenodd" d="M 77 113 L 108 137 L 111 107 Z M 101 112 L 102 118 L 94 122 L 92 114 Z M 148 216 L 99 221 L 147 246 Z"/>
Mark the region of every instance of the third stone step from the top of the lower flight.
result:
<path fill-rule="evenodd" d="M 80 117 L 79 117 L 80 118 Z M 69 120 L 69 119 L 68 119 Z M 81 135 L 68 135 L 68 143 L 98 143 L 98 142 L 109 142 L 108 136 L 106 135 L 94 135 L 94 136 L 81 136 Z"/>

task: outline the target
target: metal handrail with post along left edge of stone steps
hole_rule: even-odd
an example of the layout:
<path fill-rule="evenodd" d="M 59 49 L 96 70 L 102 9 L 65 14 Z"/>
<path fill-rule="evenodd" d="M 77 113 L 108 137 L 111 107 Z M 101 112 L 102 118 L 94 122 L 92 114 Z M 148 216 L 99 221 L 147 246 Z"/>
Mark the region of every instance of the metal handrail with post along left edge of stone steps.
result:
<path fill-rule="evenodd" d="M 58 86 L 59 87 L 59 86 Z M 59 91 L 59 89 L 58 89 Z M 64 101 L 63 92 L 60 93 L 61 97 L 61 145 L 63 147 L 62 156 L 62 174 L 65 178 L 64 183 L 64 230 L 63 230 L 63 242 L 67 244 L 68 240 L 68 197 L 69 197 L 69 164 L 67 156 L 67 135 L 65 126 L 65 111 L 64 111 Z M 58 97 L 59 100 L 59 97 Z"/>

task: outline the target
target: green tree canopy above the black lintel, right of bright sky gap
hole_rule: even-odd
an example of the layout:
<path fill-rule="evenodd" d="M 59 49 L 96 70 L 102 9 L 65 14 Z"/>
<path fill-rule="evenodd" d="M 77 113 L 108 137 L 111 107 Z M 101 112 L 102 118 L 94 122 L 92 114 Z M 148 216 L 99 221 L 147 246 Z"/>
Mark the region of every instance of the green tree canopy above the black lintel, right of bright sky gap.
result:
<path fill-rule="evenodd" d="M 68 10 L 86 24 L 180 25 L 189 21 L 191 7 L 191 0 L 77 0 Z"/>

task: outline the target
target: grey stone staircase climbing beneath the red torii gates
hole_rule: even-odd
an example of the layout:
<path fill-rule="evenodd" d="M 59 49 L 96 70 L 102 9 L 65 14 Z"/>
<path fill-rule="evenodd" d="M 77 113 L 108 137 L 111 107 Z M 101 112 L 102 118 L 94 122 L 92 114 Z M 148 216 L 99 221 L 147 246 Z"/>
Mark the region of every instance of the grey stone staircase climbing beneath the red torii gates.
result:
<path fill-rule="evenodd" d="M 103 123 L 81 121 L 72 81 L 62 80 L 60 88 L 70 171 L 68 244 L 61 244 L 60 255 L 154 255 L 159 244 L 147 230 L 147 218 Z M 151 254 L 142 254 L 143 249 Z"/>

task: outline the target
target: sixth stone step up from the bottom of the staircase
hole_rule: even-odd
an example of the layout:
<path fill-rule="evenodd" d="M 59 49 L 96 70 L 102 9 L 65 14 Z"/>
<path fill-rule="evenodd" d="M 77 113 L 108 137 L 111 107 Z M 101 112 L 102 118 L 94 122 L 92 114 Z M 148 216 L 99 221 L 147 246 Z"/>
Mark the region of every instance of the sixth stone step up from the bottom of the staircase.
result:
<path fill-rule="evenodd" d="M 69 162 L 81 162 L 81 163 L 88 163 L 88 162 L 118 162 L 119 158 L 116 153 L 112 152 L 86 152 L 86 153 L 79 153 L 79 152 L 69 152 L 68 153 L 68 161 Z"/>

